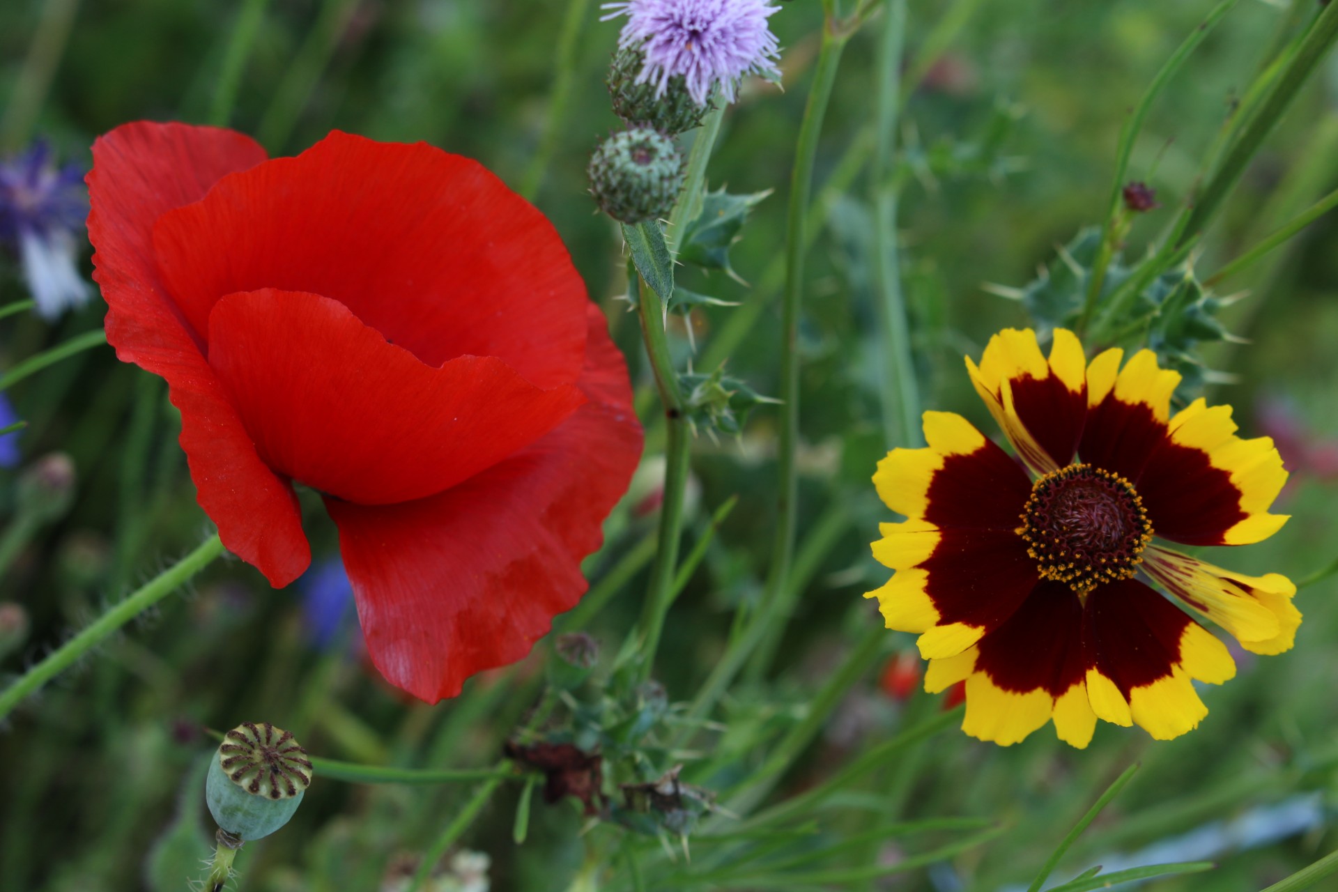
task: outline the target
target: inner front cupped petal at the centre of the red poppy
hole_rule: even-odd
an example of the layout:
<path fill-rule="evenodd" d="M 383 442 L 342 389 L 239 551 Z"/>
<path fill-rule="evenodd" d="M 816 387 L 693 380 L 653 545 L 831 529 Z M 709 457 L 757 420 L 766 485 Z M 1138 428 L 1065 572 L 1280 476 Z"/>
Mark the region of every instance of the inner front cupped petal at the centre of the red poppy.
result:
<path fill-rule="evenodd" d="M 427 366 L 339 301 L 273 289 L 214 305 L 209 364 L 266 464 L 357 504 L 442 492 L 585 403 L 578 388 L 541 391 L 491 356 Z"/>

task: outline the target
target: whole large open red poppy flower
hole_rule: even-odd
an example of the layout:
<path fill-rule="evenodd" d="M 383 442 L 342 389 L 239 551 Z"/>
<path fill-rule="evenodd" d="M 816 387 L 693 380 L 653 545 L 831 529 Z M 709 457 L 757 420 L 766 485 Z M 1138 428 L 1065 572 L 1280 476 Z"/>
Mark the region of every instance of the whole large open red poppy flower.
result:
<path fill-rule="evenodd" d="M 424 143 L 227 130 L 94 144 L 88 234 L 116 356 L 166 378 L 201 507 L 274 586 L 324 496 L 372 661 L 435 702 L 527 654 L 586 588 L 641 428 L 553 226 Z"/>

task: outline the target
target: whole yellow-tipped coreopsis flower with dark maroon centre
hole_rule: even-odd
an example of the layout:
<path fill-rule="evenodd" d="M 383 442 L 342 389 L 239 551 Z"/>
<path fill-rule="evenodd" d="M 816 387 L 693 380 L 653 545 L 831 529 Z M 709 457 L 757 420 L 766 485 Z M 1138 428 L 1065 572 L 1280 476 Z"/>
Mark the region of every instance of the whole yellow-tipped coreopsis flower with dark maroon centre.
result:
<path fill-rule="evenodd" d="M 1009 745 L 1054 719 L 1086 746 L 1096 719 L 1169 740 L 1207 707 L 1191 679 L 1235 674 L 1227 647 L 1175 602 L 1256 654 L 1288 650 L 1297 587 L 1163 544 L 1242 546 L 1287 520 L 1268 514 L 1287 472 L 1268 437 L 1235 435 L 1231 407 L 1171 415 L 1180 374 L 1151 350 L 1086 361 L 1054 333 L 990 338 L 977 392 L 1021 464 L 950 412 L 925 413 L 923 449 L 894 449 L 874 484 L 902 523 L 874 556 L 896 572 L 878 598 L 888 629 L 919 633 L 925 687 L 966 681 L 962 730 Z M 1025 471 L 1024 471 L 1025 467 Z"/>

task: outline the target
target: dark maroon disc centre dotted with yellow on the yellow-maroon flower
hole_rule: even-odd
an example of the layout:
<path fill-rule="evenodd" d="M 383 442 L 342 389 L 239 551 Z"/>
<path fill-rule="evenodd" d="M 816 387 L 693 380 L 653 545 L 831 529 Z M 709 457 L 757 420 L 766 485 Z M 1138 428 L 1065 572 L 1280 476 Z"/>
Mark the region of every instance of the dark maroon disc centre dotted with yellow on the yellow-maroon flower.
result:
<path fill-rule="evenodd" d="M 1070 464 L 1032 485 L 1017 532 L 1044 579 L 1088 591 L 1136 572 L 1152 523 L 1132 483 L 1089 464 Z"/>

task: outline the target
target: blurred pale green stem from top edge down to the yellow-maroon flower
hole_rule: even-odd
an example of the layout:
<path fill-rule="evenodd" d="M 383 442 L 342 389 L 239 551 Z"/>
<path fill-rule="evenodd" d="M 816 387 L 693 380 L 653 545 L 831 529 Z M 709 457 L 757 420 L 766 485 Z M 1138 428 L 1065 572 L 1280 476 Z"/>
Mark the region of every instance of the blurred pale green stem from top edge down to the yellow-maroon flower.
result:
<path fill-rule="evenodd" d="M 900 249 L 896 238 L 896 191 L 890 169 L 896 152 L 900 114 L 902 49 L 906 39 L 906 0 L 888 0 L 875 67 L 876 108 L 874 159 L 868 174 L 874 199 L 874 282 L 883 344 L 883 429 L 888 448 L 918 445 L 921 401 L 911 354 L 910 324 L 902 294 Z"/>

